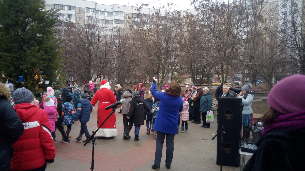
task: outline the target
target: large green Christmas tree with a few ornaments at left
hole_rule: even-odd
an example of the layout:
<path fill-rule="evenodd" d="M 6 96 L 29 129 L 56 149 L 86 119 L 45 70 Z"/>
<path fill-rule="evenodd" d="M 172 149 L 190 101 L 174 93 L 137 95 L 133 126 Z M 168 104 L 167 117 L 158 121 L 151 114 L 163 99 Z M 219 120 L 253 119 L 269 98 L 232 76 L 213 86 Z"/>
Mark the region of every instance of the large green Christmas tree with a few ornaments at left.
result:
<path fill-rule="evenodd" d="M 63 60 L 59 45 L 63 40 L 53 30 L 56 11 L 44 11 L 44 6 L 41 0 L 0 1 L 0 74 L 16 88 L 25 87 L 36 95 L 56 82 Z M 19 76 L 23 82 L 18 82 Z M 40 76 L 49 85 L 38 84 Z"/>

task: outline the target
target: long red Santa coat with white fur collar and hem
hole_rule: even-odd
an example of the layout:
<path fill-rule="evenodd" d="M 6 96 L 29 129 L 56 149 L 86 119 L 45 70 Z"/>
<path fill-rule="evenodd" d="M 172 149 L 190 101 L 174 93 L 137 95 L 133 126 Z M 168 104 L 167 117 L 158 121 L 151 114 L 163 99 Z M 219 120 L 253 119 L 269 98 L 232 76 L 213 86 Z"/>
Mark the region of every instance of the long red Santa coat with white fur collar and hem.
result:
<path fill-rule="evenodd" d="M 99 101 L 99 106 L 97 109 L 97 128 L 104 122 L 104 120 L 109 116 L 112 109 L 105 110 L 105 107 L 116 103 L 113 91 L 110 90 L 109 83 L 101 85 L 101 88 L 95 93 L 93 99 L 91 100 L 92 106 Z M 102 125 L 99 131 L 96 132 L 98 137 L 115 137 L 117 136 L 117 124 L 116 124 L 115 113 L 111 115 L 106 122 Z"/>

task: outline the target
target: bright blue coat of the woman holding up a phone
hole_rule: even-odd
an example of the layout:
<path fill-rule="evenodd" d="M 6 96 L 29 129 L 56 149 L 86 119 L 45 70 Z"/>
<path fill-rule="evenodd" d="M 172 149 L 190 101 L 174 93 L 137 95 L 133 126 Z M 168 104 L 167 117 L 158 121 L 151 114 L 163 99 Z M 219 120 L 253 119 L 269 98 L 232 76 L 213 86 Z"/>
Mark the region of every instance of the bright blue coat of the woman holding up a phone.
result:
<path fill-rule="evenodd" d="M 158 92 L 156 83 L 152 83 L 152 96 L 160 99 L 160 106 L 152 129 L 168 134 L 177 134 L 179 112 L 183 109 L 181 96 L 173 97 L 165 92 Z"/>

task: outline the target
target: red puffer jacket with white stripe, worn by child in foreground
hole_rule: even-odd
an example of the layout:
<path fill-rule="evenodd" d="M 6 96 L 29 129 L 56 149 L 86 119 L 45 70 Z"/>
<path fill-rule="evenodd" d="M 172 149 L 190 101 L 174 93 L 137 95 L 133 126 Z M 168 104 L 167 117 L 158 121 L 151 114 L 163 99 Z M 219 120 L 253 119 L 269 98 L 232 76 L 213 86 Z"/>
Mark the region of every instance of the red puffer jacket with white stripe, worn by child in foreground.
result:
<path fill-rule="evenodd" d="M 16 104 L 14 109 L 24 126 L 23 134 L 13 143 L 12 170 L 36 169 L 53 161 L 56 149 L 47 113 L 30 103 Z M 49 161 L 51 160 L 51 161 Z"/>

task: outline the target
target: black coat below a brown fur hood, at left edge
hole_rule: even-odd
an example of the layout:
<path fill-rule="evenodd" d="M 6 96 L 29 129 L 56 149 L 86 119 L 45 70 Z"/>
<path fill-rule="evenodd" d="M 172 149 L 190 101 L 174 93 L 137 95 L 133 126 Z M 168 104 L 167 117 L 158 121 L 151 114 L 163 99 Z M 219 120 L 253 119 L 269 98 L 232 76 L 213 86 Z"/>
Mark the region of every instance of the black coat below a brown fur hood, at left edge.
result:
<path fill-rule="evenodd" d="M 23 124 L 9 101 L 0 96 L 0 170 L 10 170 L 12 143 L 23 134 Z"/>

